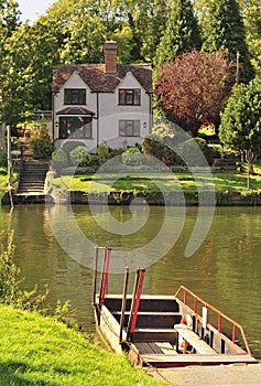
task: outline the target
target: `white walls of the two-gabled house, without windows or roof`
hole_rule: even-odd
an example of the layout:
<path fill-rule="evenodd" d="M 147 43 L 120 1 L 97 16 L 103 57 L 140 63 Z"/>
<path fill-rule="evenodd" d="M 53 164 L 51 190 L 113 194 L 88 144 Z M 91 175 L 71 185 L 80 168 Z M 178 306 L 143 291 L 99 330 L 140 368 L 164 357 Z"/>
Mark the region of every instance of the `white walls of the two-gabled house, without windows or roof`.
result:
<path fill-rule="evenodd" d="M 150 96 L 145 94 L 145 90 L 141 87 L 137 78 L 128 73 L 124 79 L 118 85 L 113 93 L 91 93 L 90 88 L 80 78 L 77 73 L 74 73 L 64 86 L 59 89 L 59 93 L 54 96 L 54 139 L 58 138 L 58 117 L 57 111 L 63 110 L 66 107 L 64 105 L 64 89 L 65 88 L 86 88 L 87 104 L 84 107 L 95 112 L 93 119 L 93 138 L 80 140 L 90 149 L 91 152 L 96 152 L 98 143 L 107 143 L 110 148 L 119 148 L 122 146 L 132 146 L 142 142 L 142 139 L 150 133 L 151 124 L 151 103 Z M 119 88 L 123 89 L 141 89 L 141 105 L 119 105 Z M 98 104 L 97 104 L 98 98 Z M 74 106 L 75 107 L 75 106 Z M 98 115 L 98 119 L 97 119 Z M 137 137 L 121 137 L 119 136 L 119 120 L 139 120 L 140 121 L 140 136 Z M 74 139 L 75 140 L 75 139 Z M 57 140 L 56 144 L 59 146 L 64 140 Z"/>

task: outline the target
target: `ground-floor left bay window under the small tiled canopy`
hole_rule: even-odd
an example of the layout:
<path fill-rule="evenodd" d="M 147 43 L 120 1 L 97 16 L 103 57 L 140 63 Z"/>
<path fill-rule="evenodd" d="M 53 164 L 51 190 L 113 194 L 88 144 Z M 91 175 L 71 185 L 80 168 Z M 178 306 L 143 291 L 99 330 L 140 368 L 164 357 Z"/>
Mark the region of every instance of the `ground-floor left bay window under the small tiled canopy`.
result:
<path fill-rule="evenodd" d="M 91 118 L 87 117 L 61 117 L 59 118 L 59 139 L 65 138 L 78 138 L 78 139 L 91 139 L 93 138 L 93 124 Z"/>

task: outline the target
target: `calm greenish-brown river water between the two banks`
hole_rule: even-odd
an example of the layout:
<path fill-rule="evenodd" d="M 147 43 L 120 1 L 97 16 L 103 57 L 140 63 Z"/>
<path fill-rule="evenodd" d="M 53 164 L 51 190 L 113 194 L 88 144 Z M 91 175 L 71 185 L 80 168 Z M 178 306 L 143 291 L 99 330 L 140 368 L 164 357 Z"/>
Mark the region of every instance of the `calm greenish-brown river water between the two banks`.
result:
<path fill-rule="evenodd" d="M 209 230 L 205 238 L 199 232 L 200 246 L 187 256 L 197 217 L 197 207 L 97 206 L 94 214 L 86 205 L 24 205 L 12 213 L 3 206 L 0 230 L 14 230 L 22 286 L 47 283 L 50 303 L 70 300 L 75 320 L 89 331 L 94 245 L 107 245 L 112 247 L 110 292 L 122 291 L 124 266 L 145 266 L 144 293 L 173 294 L 181 285 L 188 287 L 239 322 L 261 358 L 261 208 L 217 207 L 213 218 L 206 213 Z"/>

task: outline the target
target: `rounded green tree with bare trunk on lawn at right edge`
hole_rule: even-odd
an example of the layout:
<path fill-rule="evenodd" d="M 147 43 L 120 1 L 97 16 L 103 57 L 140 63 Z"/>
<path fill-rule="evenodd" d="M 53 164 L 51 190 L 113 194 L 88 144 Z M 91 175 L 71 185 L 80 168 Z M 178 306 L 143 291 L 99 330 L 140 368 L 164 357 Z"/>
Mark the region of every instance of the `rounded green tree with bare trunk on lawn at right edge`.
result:
<path fill-rule="evenodd" d="M 219 127 L 221 142 L 244 153 L 249 173 L 261 153 L 261 82 L 254 78 L 249 84 L 235 87 Z"/>

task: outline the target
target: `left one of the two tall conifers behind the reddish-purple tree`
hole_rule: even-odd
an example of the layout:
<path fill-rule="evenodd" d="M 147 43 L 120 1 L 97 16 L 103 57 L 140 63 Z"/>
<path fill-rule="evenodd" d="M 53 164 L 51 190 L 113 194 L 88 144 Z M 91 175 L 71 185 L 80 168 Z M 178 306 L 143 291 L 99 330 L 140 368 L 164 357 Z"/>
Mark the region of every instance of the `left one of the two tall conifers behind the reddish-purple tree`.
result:
<path fill-rule="evenodd" d="M 189 0 L 173 1 L 166 29 L 156 50 L 155 65 L 174 61 L 182 53 L 200 49 L 200 45 L 198 23 L 192 2 Z"/>

